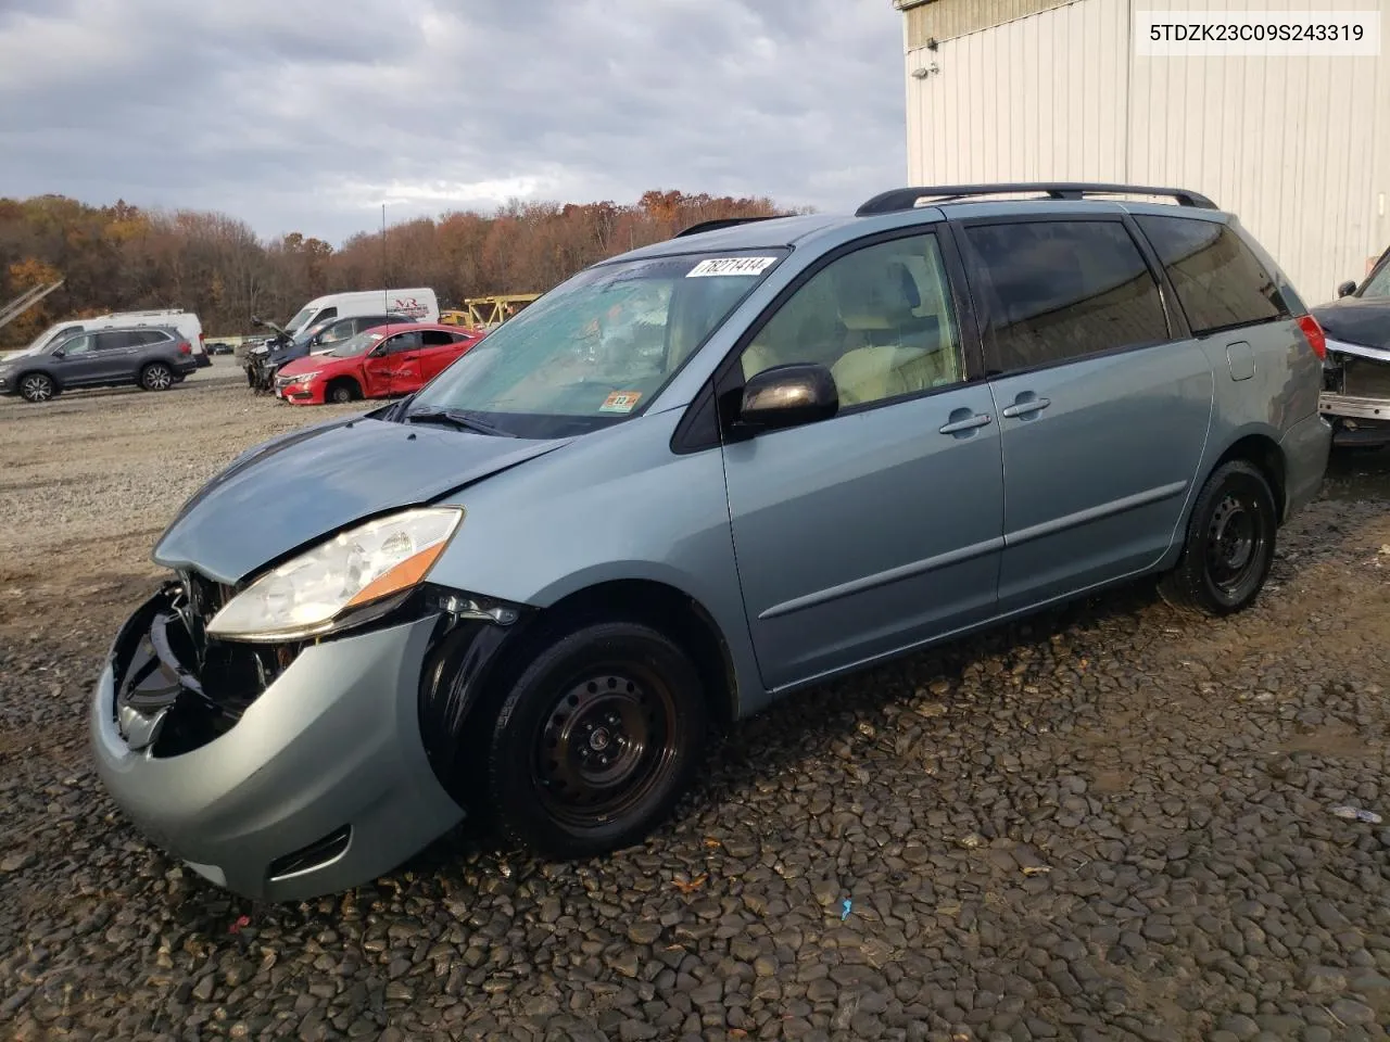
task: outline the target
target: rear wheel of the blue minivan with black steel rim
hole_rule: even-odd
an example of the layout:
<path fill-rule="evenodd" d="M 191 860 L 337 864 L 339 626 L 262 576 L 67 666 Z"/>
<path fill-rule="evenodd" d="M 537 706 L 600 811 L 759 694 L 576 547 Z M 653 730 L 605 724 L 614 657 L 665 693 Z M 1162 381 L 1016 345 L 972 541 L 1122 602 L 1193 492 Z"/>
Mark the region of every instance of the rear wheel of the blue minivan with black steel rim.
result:
<path fill-rule="evenodd" d="M 1193 506 L 1183 556 L 1159 593 L 1176 609 L 1208 615 L 1244 611 L 1269 577 L 1277 528 L 1265 475 L 1244 460 L 1222 464 Z"/>

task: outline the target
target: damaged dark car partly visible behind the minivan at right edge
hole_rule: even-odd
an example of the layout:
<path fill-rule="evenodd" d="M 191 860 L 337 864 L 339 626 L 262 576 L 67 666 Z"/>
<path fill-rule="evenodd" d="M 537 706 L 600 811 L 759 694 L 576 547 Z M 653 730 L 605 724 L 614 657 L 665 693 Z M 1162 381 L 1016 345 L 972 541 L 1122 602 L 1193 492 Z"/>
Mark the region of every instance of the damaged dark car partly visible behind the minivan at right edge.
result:
<path fill-rule="evenodd" d="M 1343 282 L 1337 300 L 1312 310 L 1327 333 L 1319 407 L 1339 446 L 1390 445 L 1390 249 L 1365 282 Z"/>

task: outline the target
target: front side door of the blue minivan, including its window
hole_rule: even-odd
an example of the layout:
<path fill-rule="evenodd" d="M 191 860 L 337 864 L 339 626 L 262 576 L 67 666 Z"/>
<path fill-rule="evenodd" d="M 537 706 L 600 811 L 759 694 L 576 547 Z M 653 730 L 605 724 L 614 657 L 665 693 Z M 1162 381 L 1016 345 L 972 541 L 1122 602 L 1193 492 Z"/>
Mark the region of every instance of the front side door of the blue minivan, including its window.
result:
<path fill-rule="evenodd" d="M 994 613 L 1004 463 L 960 285 L 954 245 L 913 229 L 830 260 L 739 356 L 735 389 L 817 363 L 840 396 L 830 420 L 726 431 L 734 554 L 769 690 Z"/>

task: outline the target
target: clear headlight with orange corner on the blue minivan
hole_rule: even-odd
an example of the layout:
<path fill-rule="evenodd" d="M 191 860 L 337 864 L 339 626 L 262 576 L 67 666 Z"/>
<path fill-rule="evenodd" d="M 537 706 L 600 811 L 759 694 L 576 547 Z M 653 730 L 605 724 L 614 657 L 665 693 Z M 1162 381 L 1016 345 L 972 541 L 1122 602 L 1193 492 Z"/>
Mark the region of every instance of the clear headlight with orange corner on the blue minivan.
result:
<path fill-rule="evenodd" d="M 424 507 L 342 532 L 238 593 L 207 632 L 224 640 L 327 634 L 345 613 L 424 581 L 461 522 L 459 507 Z"/>

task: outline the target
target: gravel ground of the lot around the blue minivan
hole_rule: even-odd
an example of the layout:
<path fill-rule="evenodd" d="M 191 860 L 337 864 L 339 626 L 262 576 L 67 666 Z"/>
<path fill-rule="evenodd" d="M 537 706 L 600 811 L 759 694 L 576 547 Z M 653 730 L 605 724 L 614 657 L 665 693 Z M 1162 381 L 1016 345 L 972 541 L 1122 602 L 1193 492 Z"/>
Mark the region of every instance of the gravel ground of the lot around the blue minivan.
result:
<path fill-rule="evenodd" d="M 0 1035 L 1383 1039 L 1390 458 L 1336 460 L 1238 618 L 1122 590 L 749 721 L 645 847 L 467 829 L 231 898 L 89 767 L 89 685 L 179 502 L 325 415 L 227 360 L 0 404 Z M 1386 454 L 1390 457 L 1390 454 Z"/>

